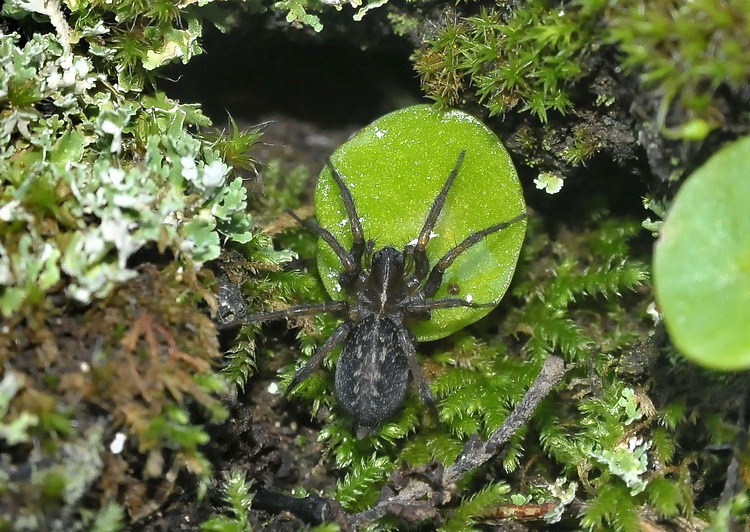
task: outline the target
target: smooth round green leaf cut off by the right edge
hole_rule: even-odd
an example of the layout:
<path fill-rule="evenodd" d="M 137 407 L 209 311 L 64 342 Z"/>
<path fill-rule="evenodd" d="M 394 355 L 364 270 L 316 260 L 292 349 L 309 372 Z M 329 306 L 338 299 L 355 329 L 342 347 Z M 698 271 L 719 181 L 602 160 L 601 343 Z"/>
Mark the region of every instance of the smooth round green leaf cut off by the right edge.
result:
<path fill-rule="evenodd" d="M 750 137 L 680 188 L 656 243 L 654 284 L 685 356 L 710 368 L 750 367 Z"/>

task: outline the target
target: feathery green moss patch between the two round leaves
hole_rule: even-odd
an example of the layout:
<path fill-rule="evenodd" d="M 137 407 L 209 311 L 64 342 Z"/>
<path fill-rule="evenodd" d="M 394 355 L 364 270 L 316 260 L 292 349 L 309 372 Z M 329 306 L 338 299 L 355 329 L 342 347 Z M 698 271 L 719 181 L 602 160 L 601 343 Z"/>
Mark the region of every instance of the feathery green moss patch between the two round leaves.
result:
<path fill-rule="evenodd" d="M 529 274 L 513 290 L 524 304 L 508 316 L 508 327 L 529 335 L 526 350 L 535 357 L 558 352 L 580 361 L 590 356 L 593 346 L 611 352 L 638 337 L 620 295 L 648 279 L 646 265 L 628 259 L 628 239 L 640 230 L 635 220 L 607 219 L 595 230 L 566 231 L 556 242 L 540 235 L 526 246 L 521 260 Z M 590 330 L 581 328 L 589 313 L 585 302 L 592 297 L 602 298 L 613 327 L 599 323 Z"/>

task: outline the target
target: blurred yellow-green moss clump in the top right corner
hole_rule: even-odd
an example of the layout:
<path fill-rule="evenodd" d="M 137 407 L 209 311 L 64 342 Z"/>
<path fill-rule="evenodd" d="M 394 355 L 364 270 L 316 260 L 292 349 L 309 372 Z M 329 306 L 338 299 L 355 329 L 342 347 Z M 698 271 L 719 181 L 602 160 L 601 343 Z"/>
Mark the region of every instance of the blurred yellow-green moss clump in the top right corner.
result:
<path fill-rule="evenodd" d="M 726 112 L 718 105 L 720 87 L 742 97 L 750 82 L 747 0 L 618 2 L 605 40 L 617 44 L 623 67 L 660 98 L 660 126 L 672 108 L 678 124 L 699 118 L 720 125 Z"/>

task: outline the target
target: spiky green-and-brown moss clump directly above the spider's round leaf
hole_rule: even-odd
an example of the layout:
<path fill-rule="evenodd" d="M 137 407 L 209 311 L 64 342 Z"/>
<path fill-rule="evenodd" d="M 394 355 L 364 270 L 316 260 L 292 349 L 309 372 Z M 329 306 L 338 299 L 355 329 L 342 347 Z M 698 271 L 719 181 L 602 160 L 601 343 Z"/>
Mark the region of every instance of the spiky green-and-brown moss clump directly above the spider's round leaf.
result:
<path fill-rule="evenodd" d="M 518 108 L 546 122 L 549 110 L 571 108 L 571 88 L 588 73 L 599 4 L 533 0 L 449 22 L 414 55 L 422 87 L 443 106 L 472 87 L 490 115 Z"/>

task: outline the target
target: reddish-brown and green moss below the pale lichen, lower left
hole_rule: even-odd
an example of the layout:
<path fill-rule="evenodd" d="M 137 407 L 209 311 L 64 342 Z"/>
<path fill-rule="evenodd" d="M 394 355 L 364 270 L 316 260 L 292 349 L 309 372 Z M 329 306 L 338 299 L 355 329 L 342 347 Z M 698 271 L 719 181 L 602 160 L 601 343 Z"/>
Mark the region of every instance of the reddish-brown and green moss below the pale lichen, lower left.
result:
<path fill-rule="evenodd" d="M 209 477 L 211 467 L 199 450 L 208 436 L 200 423 L 221 421 L 226 413 L 219 400 L 224 383 L 214 372 L 220 356 L 214 326 L 196 305 L 213 298 L 204 282 L 189 271 L 178 273 L 176 265 L 144 267 L 127 287 L 85 313 L 54 319 L 40 313 L 0 335 L 0 360 L 13 371 L 6 378 L 15 375 L 22 383 L 5 422 L 38 420 L 27 427 L 25 441 L 8 442 L 13 458 L 7 465 L 38 463 L 32 467 L 39 474 L 6 484 L 5 515 L 41 523 L 52 515 L 53 503 L 72 518 L 85 495 L 105 506 L 126 496 L 126 509 L 138 516 L 152 511 L 145 492 L 137 495 L 141 483 L 161 478 L 158 483 L 168 487 L 174 482 L 170 475 L 162 478 L 168 469 Z M 194 406 L 197 416 L 187 410 Z M 117 433 L 127 436 L 115 451 Z M 149 457 L 144 469 L 137 461 L 141 453 Z M 87 463 L 72 462 L 73 456 Z M 60 495 L 45 503 L 33 494 L 49 498 L 44 479 L 58 463 L 75 467 L 76 474 L 61 477 L 52 492 Z M 128 463 L 137 470 L 123 475 Z M 85 482 L 77 481 L 84 473 Z"/>

